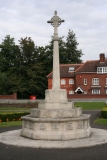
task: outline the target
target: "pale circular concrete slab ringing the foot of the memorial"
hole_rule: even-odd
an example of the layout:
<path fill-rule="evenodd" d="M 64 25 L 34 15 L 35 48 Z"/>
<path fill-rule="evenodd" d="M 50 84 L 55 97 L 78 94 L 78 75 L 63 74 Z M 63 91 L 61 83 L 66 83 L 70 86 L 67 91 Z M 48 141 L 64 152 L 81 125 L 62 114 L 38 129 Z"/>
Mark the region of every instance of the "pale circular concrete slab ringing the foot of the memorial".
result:
<path fill-rule="evenodd" d="M 91 129 L 89 138 L 69 140 L 69 141 L 44 141 L 33 140 L 20 136 L 21 130 L 3 132 L 0 134 L 0 142 L 18 147 L 30 148 L 82 148 L 101 145 L 107 143 L 107 130 Z"/>

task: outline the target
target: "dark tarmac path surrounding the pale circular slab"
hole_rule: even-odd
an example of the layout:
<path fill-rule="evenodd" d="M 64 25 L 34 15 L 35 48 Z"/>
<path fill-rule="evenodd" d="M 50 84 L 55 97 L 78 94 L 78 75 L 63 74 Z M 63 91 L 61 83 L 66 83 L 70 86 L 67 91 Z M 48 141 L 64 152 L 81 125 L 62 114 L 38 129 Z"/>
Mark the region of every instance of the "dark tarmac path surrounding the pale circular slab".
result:
<path fill-rule="evenodd" d="M 107 126 L 92 124 L 100 111 L 84 111 L 84 113 L 91 114 L 91 127 L 107 130 Z M 18 128 L 2 128 L 0 133 Z M 0 143 L 0 160 L 107 160 L 107 144 L 77 149 L 35 149 Z"/>

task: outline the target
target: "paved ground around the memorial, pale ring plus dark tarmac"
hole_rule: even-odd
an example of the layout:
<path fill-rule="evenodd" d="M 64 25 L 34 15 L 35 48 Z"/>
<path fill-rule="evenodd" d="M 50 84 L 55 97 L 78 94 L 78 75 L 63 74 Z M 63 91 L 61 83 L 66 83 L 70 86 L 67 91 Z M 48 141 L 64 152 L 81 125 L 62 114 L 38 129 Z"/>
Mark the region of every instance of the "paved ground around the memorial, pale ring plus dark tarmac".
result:
<path fill-rule="evenodd" d="M 107 126 L 93 124 L 100 111 L 83 111 L 83 113 L 91 114 L 90 124 L 93 135 L 89 139 L 76 140 L 78 146 L 73 146 L 75 140 L 72 140 L 59 143 L 60 146 L 57 148 L 48 148 L 46 145 L 43 147 L 43 144 L 35 147 L 33 146 L 34 140 L 19 139 L 20 127 L 1 128 L 2 141 L 11 141 L 11 144 L 17 141 L 17 144 L 0 143 L 0 160 L 107 160 Z M 93 145 L 94 141 L 97 143 Z M 22 146 L 18 145 L 19 142 L 22 143 Z M 67 146 L 64 147 L 63 143 L 66 143 Z M 51 145 L 54 146 L 54 142 Z"/>

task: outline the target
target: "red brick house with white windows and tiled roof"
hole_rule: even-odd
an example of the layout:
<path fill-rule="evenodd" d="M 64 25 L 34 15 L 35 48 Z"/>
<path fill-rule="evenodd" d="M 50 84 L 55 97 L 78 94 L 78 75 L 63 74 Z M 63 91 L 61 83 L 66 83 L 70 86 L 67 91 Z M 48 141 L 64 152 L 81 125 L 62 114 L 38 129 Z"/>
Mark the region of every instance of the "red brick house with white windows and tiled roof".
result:
<path fill-rule="evenodd" d="M 47 76 L 52 89 L 52 72 Z M 61 88 L 68 98 L 107 98 L 107 60 L 101 53 L 99 60 L 82 64 L 60 64 Z"/>

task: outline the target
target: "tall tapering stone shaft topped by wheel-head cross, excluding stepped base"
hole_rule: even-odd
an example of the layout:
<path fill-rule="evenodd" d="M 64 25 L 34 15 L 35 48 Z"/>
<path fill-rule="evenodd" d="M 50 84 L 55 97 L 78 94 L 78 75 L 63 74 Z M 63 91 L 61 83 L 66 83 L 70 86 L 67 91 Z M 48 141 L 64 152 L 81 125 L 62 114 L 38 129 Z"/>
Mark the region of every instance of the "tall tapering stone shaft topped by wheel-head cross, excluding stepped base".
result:
<path fill-rule="evenodd" d="M 54 16 L 51 18 L 50 21 L 47 21 L 48 23 L 51 23 L 51 25 L 54 27 L 54 37 L 53 37 L 53 90 L 60 89 L 60 71 L 59 71 L 59 38 L 58 38 L 58 31 L 57 28 L 61 24 L 61 22 L 64 22 L 64 20 L 61 20 L 57 16 L 57 11 L 55 11 Z"/>

